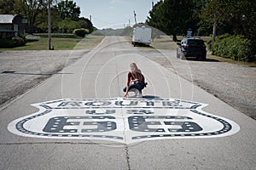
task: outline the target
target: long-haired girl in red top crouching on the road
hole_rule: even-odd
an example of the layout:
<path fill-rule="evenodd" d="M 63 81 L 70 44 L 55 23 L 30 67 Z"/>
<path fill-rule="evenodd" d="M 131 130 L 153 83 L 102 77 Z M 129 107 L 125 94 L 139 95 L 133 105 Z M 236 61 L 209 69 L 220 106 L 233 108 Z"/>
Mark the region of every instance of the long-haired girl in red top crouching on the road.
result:
<path fill-rule="evenodd" d="M 130 65 L 131 71 L 128 72 L 128 79 L 126 87 L 124 88 L 125 96 L 128 96 L 128 92 L 134 92 L 136 97 L 143 97 L 142 90 L 145 87 L 144 77 L 142 71 L 137 68 L 135 63 Z"/>

